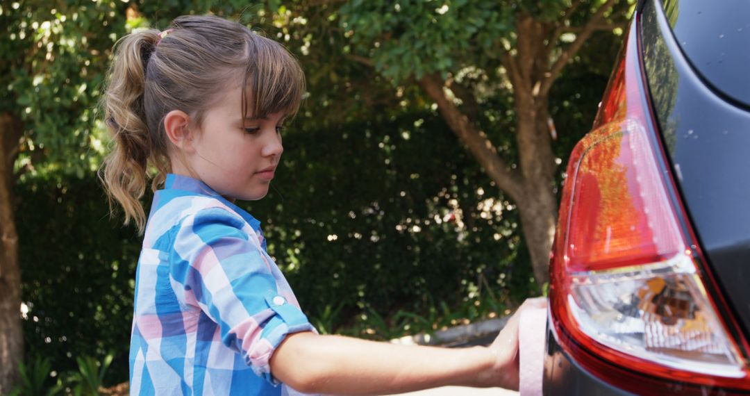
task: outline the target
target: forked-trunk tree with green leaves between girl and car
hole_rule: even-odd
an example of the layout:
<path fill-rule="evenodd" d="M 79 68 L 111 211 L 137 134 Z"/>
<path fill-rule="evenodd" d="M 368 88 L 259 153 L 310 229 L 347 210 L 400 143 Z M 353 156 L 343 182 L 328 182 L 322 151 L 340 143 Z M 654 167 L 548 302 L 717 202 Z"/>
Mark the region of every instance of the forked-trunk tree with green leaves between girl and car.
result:
<path fill-rule="evenodd" d="M 309 3 L 320 3 L 310 1 Z M 519 208 L 538 285 L 547 282 L 557 202 L 550 90 L 595 31 L 625 27 L 628 1 L 329 1 L 350 60 L 419 86 Z M 308 2 L 302 2 L 311 7 Z M 320 4 L 313 5 L 317 7 Z M 285 10 L 285 9 L 284 9 Z M 284 11 L 282 10 L 282 11 Z M 511 127 L 481 111 L 509 98 Z M 514 150 L 499 145 L 514 135 Z"/>

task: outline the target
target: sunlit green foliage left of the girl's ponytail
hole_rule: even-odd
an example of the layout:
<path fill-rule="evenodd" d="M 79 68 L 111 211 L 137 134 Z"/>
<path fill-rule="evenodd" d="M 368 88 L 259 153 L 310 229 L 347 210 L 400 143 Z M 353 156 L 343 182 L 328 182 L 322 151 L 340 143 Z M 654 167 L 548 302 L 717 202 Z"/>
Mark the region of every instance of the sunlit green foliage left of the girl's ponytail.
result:
<path fill-rule="evenodd" d="M 6 3 L 7 4 L 7 3 Z M 83 177 L 101 158 L 98 101 L 110 48 L 125 33 L 121 1 L 17 1 L 0 20 L 0 111 L 26 124 L 17 166 Z M 7 59 L 7 60 L 6 60 Z"/>

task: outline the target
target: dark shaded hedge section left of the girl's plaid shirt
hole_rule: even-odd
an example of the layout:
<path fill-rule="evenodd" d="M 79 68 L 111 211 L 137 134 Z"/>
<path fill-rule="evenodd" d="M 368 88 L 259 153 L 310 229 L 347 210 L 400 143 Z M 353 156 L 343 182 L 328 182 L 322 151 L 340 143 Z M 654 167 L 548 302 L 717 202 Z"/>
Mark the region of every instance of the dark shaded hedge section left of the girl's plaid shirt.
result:
<path fill-rule="evenodd" d="M 29 178 L 16 194 L 27 350 L 57 371 L 77 356 L 115 351 L 127 372 L 140 239 L 107 217 L 107 199 L 88 178 Z"/>

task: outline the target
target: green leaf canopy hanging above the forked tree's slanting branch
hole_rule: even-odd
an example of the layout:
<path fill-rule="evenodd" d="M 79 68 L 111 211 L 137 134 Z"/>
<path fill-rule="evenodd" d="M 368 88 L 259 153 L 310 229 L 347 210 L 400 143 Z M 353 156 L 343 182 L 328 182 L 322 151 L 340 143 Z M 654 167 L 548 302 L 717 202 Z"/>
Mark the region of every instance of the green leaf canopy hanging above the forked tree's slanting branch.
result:
<path fill-rule="evenodd" d="M 356 52 L 401 82 L 496 62 L 513 31 L 513 7 L 502 1 L 350 1 L 341 26 Z"/>

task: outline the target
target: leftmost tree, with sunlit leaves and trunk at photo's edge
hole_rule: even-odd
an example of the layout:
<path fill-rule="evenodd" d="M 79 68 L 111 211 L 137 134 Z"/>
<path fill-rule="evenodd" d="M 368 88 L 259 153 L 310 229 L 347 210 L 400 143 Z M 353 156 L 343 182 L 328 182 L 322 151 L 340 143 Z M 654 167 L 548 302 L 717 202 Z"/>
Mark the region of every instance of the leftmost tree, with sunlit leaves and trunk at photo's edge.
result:
<path fill-rule="evenodd" d="M 121 2 L 17 1 L 0 6 L 0 394 L 23 357 L 20 266 L 13 185 L 98 163 L 95 104 L 107 58 L 124 33 Z M 37 243 L 43 248 L 44 237 Z"/>

